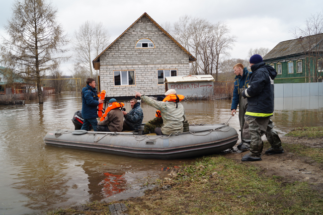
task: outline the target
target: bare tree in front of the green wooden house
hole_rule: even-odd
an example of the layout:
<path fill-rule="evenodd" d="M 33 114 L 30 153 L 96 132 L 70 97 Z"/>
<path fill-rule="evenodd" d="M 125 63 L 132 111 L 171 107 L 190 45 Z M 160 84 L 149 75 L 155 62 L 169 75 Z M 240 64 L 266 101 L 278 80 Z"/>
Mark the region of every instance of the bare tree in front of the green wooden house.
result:
<path fill-rule="evenodd" d="M 293 34 L 302 47 L 309 82 L 317 82 L 323 74 L 323 13 L 311 15 L 305 24 L 305 28 L 295 28 Z"/>

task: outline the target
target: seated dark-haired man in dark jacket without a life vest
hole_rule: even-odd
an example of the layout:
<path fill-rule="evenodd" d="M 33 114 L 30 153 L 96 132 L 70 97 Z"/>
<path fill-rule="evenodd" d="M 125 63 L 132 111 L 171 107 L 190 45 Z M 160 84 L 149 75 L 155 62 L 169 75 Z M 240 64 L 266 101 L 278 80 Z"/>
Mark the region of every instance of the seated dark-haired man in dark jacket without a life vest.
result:
<path fill-rule="evenodd" d="M 123 131 L 137 131 L 140 129 L 144 119 L 143 109 L 140 107 L 140 102 L 133 98 L 130 100 L 132 110 L 127 113 L 122 111 L 125 121 L 123 122 Z"/>

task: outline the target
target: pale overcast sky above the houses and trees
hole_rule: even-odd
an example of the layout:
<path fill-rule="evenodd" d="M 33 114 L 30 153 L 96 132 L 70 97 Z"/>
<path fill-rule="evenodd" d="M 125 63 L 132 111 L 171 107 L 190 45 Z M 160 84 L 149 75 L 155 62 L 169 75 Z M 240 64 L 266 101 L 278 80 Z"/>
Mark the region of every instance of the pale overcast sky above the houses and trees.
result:
<path fill-rule="evenodd" d="M 11 17 L 14 0 L 2 0 L 0 34 Z M 237 37 L 231 58 L 247 58 L 250 48 L 272 49 L 281 41 L 294 39 L 291 31 L 305 26 L 311 14 L 323 11 L 322 0 L 52 0 L 58 21 L 72 37 L 86 20 L 101 21 L 111 34 L 110 42 L 122 34 L 144 12 L 157 23 L 174 23 L 182 15 L 212 23 L 224 21 Z M 103 50 L 102 50 L 103 51 Z M 73 60 L 61 66 L 71 74 Z"/>

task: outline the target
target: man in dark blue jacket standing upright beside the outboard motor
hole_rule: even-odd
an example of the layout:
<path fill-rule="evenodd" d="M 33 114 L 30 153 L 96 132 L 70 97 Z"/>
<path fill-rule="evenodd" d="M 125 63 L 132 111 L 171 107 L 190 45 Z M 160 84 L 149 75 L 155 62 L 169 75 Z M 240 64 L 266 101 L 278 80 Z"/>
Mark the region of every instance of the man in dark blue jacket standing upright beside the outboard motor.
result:
<path fill-rule="evenodd" d="M 104 100 L 97 97 L 95 85 L 95 80 L 89 77 L 86 80 L 86 86 L 82 89 L 83 125 L 81 130 L 87 131 L 88 127 L 92 125 L 94 132 L 97 131 L 97 106 L 103 103 Z"/>

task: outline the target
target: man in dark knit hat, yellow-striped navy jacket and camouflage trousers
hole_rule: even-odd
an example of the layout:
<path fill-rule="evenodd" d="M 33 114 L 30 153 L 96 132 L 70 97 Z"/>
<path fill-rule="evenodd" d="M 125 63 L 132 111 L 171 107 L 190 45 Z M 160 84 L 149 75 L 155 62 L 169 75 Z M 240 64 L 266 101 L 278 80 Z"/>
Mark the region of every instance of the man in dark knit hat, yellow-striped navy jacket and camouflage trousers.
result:
<path fill-rule="evenodd" d="M 261 160 L 263 148 L 261 136 L 264 134 L 271 145 L 266 154 L 283 153 L 284 149 L 270 120 L 274 112 L 274 78 L 277 72 L 262 62 L 260 55 L 251 56 L 249 62 L 252 74 L 249 86 L 242 92 L 242 96 L 248 100 L 244 120 L 249 125 L 251 144 L 250 153 L 245 154 L 242 161 L 257 161 Z"/>

